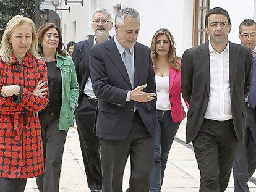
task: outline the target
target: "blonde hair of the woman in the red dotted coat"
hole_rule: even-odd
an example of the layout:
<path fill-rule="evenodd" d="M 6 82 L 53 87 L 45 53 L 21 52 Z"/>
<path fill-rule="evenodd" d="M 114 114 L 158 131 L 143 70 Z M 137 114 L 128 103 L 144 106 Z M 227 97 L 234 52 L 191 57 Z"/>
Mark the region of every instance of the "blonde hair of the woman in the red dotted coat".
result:
<path fill-rule="evenodd" d="M 38 57 L 38 54 L 36 52 L 38 47 L 38 38 L 36 34 L 36 28 L 35 23 L 29 19 L 28 17 L 17 15 L 15 17 L 12 17 L 12 19 L 9 20 L 9 22 L 6 25 L 6 29 L 4 30 L 4 34 L 2 35 L 2 41 L 0 44 L 0 56 L 4 62 L 11 62 L 12 61 L 12 54 L 13 49 L 12 45 L 9 41 L 9 38 L 12 34 L 12 32 L 15 30 L 15 28 L 19 27 L 20 25 L 28 23 L 32 28 L 32 43 L 30 46 L 30 49 L 28 50 L 33 56 Z"/>

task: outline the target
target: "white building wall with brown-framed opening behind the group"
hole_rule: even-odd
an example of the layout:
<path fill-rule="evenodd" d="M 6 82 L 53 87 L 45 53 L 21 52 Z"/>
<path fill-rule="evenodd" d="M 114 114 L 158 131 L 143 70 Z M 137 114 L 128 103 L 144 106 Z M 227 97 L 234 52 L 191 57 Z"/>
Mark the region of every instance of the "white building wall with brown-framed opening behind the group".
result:
<path fill-rule="evenodd" d="M 244 19 L 256 20 L 256 0 L 82 0 L 81 3 L 72 3 L 73 0 L 57 1 L 58 8 L 70 10 L 56 11 L 60 18 L 59 26 L 65 44 L 69 41 L 82 41 L 85 36 L 93 34 L 91 22 L 95 9 L 108 9 L 114 23 L 114 17 L 119 9 L 132 7 L 140 14 L 138 41 L 150 46 L 155 31 L 159 28 L 168 28 L 176 41 L 179 56 L 182 56 L 185 49 L 208 40 L 204 18 L 207 11 L 213 7 L 223 7 L 229 12 L 232 24 L 229 40 L 234 43 L 240 43 L 239 23 Z M 54 11 L 55 7 L 50 0 L 45 0 L 40 9 Z M 111 35 L 114 35 L 114 27 Z"/>

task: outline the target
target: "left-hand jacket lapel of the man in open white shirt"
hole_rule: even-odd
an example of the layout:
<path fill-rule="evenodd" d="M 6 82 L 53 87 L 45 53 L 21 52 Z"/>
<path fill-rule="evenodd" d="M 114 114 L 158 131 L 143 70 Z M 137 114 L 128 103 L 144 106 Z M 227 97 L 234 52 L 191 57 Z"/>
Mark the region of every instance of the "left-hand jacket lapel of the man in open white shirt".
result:
<path fill-rule="evenodd" d="M 209 43 L 209 42 L 208 42 Z M 209 56 L 209 44 L 205 43 L 201 46 L 199 51 L 199 62 L 202 65 L 203 77 L 205 85 L 207 87 L 207 93 L 210 93 L 210 56 Z"/>

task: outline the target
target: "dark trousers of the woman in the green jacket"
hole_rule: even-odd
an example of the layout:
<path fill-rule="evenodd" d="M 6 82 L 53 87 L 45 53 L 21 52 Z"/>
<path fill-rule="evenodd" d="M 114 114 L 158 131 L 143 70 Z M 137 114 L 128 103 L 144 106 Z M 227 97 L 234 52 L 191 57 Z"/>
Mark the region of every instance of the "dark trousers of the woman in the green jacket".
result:
<path fill-rule="evenodd" d="M 36 183 L 40 192 L 58 192 L 67 131 L 59 130 L 58 116 L 43 114 L 39 119 L 42 126 L 45 173 L 36 177 Z"/>

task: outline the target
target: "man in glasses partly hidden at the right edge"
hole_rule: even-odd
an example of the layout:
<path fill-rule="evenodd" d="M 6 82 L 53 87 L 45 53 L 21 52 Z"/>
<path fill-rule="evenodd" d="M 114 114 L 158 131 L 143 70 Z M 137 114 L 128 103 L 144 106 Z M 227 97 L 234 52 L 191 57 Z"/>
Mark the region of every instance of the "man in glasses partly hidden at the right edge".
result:
<path fill-rule="evenodd" d="M 256 23 L 254 20 L 245 19 L 239 26 L 241 44 L 252 51 L 252 87 L 246 106 L 246 130 L 244 144 L 239 146 L 233 164 L 235 192 L 249 192 L 248 180 L 256 169 Z"/>

